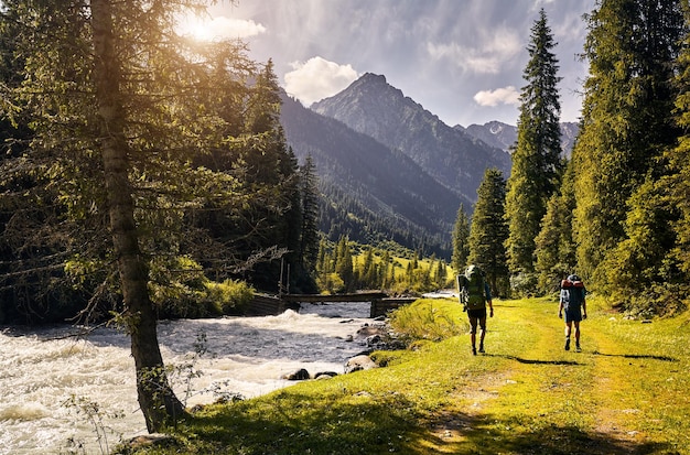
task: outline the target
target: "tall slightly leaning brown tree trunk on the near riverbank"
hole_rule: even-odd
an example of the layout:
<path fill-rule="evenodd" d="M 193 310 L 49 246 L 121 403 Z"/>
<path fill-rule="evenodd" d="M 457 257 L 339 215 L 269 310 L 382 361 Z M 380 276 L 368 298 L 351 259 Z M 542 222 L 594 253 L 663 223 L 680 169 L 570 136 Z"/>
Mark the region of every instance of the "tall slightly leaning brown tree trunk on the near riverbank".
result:
<path fill-rule="evenodd" d="M 168 382 L 157 322 L 148 291 L 147 262 L 139 249 L 132 186 L 129 181 L 126 116 L 120 94 L 120 64 L 114 48 L 110 0 L 91 0 L 94 82 L 108 195 L 110 229 L 120 273 L 122 297 L 137 371 L 137 392 L 147 429 L 153 433 L 184 415 Z"/>

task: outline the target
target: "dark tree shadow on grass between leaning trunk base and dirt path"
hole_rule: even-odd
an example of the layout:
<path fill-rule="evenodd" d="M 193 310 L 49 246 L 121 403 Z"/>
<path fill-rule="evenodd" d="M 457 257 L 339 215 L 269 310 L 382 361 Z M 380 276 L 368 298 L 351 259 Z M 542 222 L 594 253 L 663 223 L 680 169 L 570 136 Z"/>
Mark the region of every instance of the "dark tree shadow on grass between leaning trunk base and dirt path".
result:
<path fill-rule="evenodd" d="M 310 394 L 279 391 L 266 400 L 202 409 L 177 437 L 190 446 L 175 449 L 246 455 L 425 453 L 410 449 L 428 435 L 414 409 L 395 391 L 376 397 L 344 391 L 316 401 Z"/>

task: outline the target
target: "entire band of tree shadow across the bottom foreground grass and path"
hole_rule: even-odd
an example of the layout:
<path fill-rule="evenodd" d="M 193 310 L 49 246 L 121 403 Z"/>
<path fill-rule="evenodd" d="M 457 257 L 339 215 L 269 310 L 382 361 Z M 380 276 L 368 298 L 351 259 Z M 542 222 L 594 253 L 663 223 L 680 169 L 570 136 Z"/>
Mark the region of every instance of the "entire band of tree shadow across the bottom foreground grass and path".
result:
<path fill-rule="evenodd" d="M 395 392 L 343 393 L 317 402 L 309 394 L 279 393 L 259 403 L 203 409 L 165 453 L 645 455 L 670 448 L 539 418 L 442 412 L 429 421 L 414 409 Z"/>

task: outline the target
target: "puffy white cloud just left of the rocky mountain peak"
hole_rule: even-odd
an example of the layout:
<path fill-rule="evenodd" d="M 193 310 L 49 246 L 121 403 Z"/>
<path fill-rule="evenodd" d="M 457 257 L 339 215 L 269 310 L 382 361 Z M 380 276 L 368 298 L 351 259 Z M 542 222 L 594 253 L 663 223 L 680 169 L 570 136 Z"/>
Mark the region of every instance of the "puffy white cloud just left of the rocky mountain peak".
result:
<path fill-rule="evenodd" d="M 339 65 L 320 56 L 293 62 L 284 76 L 285 91 L 305 106 L 342 91 L 358 74 L 352 65 Z"/>

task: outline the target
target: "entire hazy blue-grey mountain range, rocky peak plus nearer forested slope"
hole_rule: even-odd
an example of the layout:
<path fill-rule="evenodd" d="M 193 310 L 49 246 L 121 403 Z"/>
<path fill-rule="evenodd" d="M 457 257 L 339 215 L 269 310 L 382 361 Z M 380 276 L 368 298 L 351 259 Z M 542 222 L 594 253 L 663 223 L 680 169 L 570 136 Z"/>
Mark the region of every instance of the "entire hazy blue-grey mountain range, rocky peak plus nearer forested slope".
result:
<path fill-rule="evenodd" d="M 449 127 L 384 76 L 365 74 L 310 109 L 282 98 L 288 144 L 301 163 L 312 156 L 332 240 L 392 240 L 449 259 L 460 205 L 471 214 L 487 167 L 510 172 L 515 127 Z"/>

